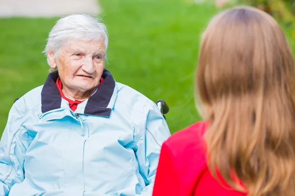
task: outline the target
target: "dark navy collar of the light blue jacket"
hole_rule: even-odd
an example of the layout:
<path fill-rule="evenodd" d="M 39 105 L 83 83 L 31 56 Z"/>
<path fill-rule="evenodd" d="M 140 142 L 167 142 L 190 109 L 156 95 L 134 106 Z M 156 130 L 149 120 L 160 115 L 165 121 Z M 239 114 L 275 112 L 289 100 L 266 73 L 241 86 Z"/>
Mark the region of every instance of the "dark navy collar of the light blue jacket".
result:
<path fill-rule="evenodd" d="M 41 92 L 42 113 L 59 109 L 61 107 L 61 96 L 56 81 L 59 77 L 58 71 L 49 73 Z M 109 117 L 117 97 L 116 82 L 112 74 L 104 69 L 102 73 L 103 83 L 96 93 L 87 99 L 84 114 Z"/>

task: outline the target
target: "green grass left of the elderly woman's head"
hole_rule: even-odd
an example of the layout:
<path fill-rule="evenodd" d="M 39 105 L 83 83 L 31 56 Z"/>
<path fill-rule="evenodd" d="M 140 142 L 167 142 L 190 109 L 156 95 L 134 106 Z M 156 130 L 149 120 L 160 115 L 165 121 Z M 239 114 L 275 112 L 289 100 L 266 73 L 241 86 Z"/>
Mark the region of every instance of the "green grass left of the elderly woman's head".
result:
<path fill-rule="evenodd" d="M 53 22 L 0 19 L 0 135 L 14 99 L 45 82 L 49 67 L 41 51 Z"/>

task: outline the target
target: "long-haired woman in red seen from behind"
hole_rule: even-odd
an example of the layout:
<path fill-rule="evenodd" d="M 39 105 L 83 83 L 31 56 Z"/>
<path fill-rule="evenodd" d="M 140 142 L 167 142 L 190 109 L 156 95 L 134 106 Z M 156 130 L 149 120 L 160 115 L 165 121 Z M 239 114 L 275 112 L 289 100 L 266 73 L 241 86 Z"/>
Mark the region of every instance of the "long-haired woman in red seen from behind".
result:
<path fill-rule="evenodd" d="M 294 65 L 265 12 L 214 17 L 196 75 L 205 121 L 164 142 L 153 196 L 294 196 Z"/>

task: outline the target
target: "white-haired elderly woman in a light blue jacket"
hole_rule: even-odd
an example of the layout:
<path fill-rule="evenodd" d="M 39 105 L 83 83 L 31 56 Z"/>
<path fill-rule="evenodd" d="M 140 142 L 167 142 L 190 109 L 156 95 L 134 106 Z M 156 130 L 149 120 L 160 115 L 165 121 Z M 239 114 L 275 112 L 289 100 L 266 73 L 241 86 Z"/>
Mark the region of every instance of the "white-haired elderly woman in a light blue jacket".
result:
<path fill-rule="evenodd" d="M 156 104 L 104 69 L 105 25 L 60 19 L 44 85 L 12 106 L 0 142 L 0 196 L 150 196 L 170 136 Z"/>

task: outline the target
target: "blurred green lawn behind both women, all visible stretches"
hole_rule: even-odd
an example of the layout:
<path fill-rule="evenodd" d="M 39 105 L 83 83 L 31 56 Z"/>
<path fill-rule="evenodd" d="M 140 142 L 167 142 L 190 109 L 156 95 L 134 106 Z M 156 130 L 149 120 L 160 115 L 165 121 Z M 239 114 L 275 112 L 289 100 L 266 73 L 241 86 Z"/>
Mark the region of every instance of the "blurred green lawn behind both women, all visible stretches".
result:
<path fill-rule="evenodd" d="M 193 89 L 201 33 L 219 10 L 194 0 L 100 0 L 108 26 L 106 68 L 153 101 L 164 99 L 172 133 L 200 120 Z M 42 50 L 54 19 L 0 19 L 0 135 L 17 97 L 42 85 L 49 67 Z M 292 29 L 282 24 L 293 51 Z"/>

